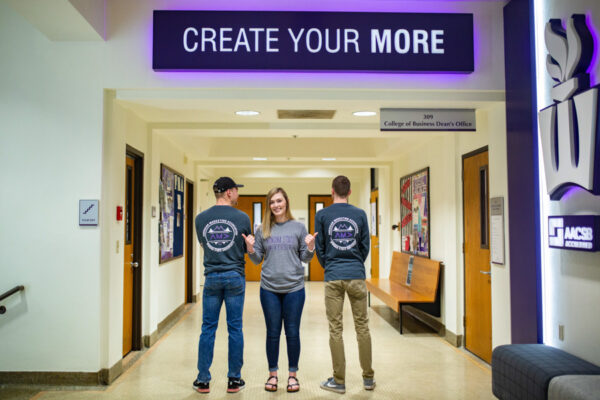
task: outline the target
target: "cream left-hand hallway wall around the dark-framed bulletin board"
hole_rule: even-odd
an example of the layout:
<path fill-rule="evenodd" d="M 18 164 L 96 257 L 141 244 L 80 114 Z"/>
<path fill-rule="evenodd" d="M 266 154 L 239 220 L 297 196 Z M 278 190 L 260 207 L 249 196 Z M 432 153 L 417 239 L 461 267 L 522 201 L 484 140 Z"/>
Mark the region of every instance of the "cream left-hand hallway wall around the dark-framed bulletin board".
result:
<path fill-rule="evenodd" d="M 195 181 L 195 168 L 186 162 L 184 152 L 168 138 L 153 133 L 148 123 L 114 101 L 114 92 L 106 91 L 104 135 L 104 192 L 101 205 L 103 280 L 103 346 L 105 360 L 114 365 L 122 358 L 123 332 L 123 235 L 124 222 L 115 221 L 115 207 L 125 204 L 125 148 L 134 147 L 144 154 L 144 204 L 142 268 L 142 335 L 152 335 L 158 324 L 185 302 L 185 258 L 158 262 L 158 186 L 160 165 L 174 169 Z M 156 217 L 152 217 L 152 207 Z M 184 232 L 185 240 L 185 232 Z M 119 251 L 116 243 L 119 242 Z M 199 247 L 196 245 L 196 247 Z M 198 253 L 195 249 L 196 254 Z M 106 283 L 107 282 L 107 283 Z M 104 347 L 103 347 L 104 348 Z"/>

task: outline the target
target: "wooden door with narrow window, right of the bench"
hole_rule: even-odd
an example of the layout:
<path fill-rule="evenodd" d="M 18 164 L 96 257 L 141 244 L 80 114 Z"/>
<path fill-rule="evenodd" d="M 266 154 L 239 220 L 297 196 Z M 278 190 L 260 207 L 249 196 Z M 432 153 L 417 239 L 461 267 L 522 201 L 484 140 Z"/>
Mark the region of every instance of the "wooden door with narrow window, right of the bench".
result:
<path fill-rule="evenodd" d="M 465 348 L 492 359 L 492 298 L 489 248 L 487 149 L 463 156 Z"/>

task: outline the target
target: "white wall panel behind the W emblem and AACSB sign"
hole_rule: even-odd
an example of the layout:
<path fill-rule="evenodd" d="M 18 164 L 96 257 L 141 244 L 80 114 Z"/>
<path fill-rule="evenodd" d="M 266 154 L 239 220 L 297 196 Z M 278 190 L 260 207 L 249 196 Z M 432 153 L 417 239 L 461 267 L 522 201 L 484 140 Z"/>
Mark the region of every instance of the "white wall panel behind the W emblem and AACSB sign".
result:
<path fill-rule="evenodd" d="M 588 69 L 590 84 L 600 84 L 600 3 L 593 0 L 535 1 L 538 110 L 552 104 L 550 89 L 554 86 L 546 72 L 548 54 L 544 44 L 544 27 L 550 18 L 566 21 L 572 14 L 585 14 L 595 40 L 595 56 Z M 596 162 L 599 161 L 596 155 Z M 551 201 L 540 152 L 540 223 L 542 226 L 542 276 L 544 303 L 544 343 L 564 349 L 585 360 L 600 364 L 600 253 L 550 249 L 547 222 L 551 215 L 599 215 L 600 198 L 584 190 L 570 191 L 560 201 Z M 558 338 L 558 326 L 564 325 L 564 341 Z"/>

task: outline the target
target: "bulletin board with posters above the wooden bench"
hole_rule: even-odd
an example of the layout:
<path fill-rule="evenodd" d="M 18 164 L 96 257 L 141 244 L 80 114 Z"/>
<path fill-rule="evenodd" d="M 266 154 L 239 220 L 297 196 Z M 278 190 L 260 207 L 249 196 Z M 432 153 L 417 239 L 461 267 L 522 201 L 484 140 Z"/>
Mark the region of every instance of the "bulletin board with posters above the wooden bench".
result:
<path fill-rule="evenodd" d="M 400 178 L 403 253 L 429 258 L 429 167 Z"/>

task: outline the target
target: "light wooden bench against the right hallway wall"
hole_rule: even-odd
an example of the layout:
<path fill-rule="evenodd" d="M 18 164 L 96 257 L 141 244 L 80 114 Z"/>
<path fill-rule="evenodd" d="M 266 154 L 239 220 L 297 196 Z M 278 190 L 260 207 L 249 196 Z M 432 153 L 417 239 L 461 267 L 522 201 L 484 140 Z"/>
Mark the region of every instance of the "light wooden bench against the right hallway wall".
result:
<path fill-rule="evenodd" d="M 413 258 L 410 284 L 407 284 L 408 265 Z M 381 299 L 400 319 L 402 334 L 402 306 L 411 305 L 433 316 L 441 316 L 440 309 L 440 272 L 442 263 L 406 253 L 394 252 L 389 279 L 370 278 L 366 280 L 371 293 Z"/>

